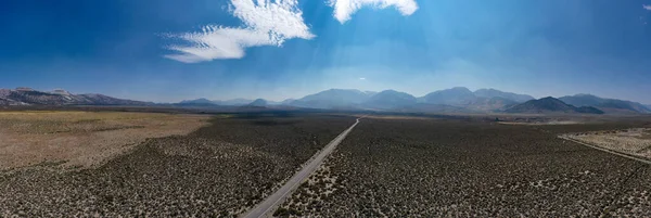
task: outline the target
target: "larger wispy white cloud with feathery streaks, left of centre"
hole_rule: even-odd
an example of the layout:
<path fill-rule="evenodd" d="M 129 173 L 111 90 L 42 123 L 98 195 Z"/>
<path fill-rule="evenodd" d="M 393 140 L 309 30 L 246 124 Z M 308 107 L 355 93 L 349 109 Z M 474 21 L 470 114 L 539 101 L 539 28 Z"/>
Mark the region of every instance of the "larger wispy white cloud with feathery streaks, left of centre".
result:
<path fill-rule="evenodd" d="M 171 35 L 187 43 L 169 46 L 177 53 L 165 57 L 184 63 L 241 59 L 251 47 L 280 47 L 288 39 L 311 39 L 315 36 L 296 4 L 297 0 L 231 0 L 230 12 L 242 20 L 243 27 L 208 25 L 202 31 Z"/>

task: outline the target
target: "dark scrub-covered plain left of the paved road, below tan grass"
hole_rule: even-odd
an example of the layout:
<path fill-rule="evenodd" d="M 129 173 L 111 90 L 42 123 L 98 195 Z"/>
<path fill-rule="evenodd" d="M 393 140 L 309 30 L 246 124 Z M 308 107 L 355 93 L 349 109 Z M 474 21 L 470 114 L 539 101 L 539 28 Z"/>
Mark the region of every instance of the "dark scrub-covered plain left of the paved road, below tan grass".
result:
<path fill-rule="evenodd" d="M 98 168 L 0 172 L 0 217 L 232 217 L 271 193 L 354 117 L 217 117 L 149 139 Z"/>

